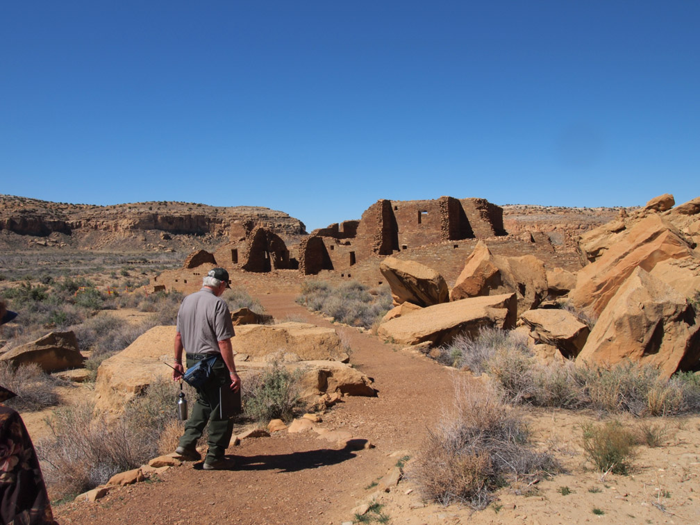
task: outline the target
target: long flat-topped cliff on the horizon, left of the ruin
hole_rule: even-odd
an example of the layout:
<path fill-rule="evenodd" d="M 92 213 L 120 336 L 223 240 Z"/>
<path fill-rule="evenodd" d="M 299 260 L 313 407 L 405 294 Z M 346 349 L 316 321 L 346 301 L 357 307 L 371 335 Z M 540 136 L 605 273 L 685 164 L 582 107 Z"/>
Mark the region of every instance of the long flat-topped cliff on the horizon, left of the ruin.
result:
<path fill-rule="evenodd" d="M 0 195 L 0 230 L 45 237 L 73 230 L 160 230 L 185 235 L 245 235 L 262 226 L 279 235 L 304 235 L 306 227 L 283 211 L 265 207 L 213 207 L 185 202 L 137 202 L 112 206 L 65 204 Z"/>

